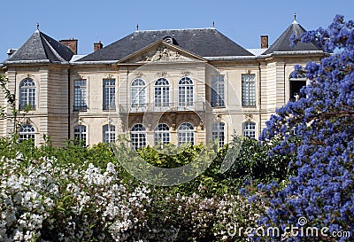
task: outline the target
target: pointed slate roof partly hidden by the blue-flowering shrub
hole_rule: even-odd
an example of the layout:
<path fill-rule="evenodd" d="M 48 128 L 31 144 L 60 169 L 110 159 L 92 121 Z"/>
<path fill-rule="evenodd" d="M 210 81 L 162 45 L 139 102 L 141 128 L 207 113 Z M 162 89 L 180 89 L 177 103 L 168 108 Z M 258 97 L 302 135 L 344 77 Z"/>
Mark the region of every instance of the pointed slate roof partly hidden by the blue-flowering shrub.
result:
<path fill-rule="evenodd" d="M 304 32 L 306 32 L 304 27 L 294 21 L 263 55 L 274 51 L 322 51 L 316 43 L 297 43 L 294 47 L 290 47 L 291 35 L 301 36 Z"/>

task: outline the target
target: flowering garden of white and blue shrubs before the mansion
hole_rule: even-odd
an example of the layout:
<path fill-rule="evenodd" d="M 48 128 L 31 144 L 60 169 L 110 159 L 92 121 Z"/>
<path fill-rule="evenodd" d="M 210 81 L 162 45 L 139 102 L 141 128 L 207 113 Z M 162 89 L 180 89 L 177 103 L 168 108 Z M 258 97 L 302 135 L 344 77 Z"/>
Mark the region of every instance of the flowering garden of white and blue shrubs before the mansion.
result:
<path fill-rule="evenodd" d="M 310 80 L 305 98 L 278 109 L 259 141 L 137 151 L 158 168 L 212 155 L 188 183 L 136 179 L 123 136 L 92 147 L 1 137 L 0 241 L 354 241 L 354 22 L 337 15 L 299 41 L 331 54 L 296 66 Z M 16 116 L 4 77 L 2 88 Z"/>

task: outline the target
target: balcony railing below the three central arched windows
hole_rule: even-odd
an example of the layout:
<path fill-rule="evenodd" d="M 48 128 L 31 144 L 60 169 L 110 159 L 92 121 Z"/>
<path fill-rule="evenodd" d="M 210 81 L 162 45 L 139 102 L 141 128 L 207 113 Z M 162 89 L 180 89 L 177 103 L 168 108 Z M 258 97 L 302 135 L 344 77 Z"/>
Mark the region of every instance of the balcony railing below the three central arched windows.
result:
<path fill-rule="evenodd" d="M 119 113 L 205 111 L 204 102 L 119 105 Z"/>

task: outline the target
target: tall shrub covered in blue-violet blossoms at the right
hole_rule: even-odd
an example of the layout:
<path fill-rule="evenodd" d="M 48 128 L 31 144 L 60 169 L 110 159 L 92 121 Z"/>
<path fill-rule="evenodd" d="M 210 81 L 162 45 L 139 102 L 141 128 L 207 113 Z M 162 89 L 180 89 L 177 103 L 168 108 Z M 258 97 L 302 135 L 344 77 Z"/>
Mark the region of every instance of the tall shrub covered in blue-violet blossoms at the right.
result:
<path fill-rule="evenodd" d="M 260 139 L 281 137 L 272 153 L 296 154 L 291 166 L 297 173 L 285 189 L 272 193 L 261 222 L 282 230 L 287 224 L 319 229 L 318 236 L 309 238 L 309 230 L 303 230 L 288 234 L 287 241 L 348 241 L 331 234 L 351 231 L 354 238 L 354 22 L 336 15 L 326 29 L 291 41 L 315 42 L 332 54 L 320 63 L 296 66 L 310 80 L 301 90 L 305 98 L 289 102 L 266 122 Z M 263 189 L 271 191 L 273 185 Z"/>

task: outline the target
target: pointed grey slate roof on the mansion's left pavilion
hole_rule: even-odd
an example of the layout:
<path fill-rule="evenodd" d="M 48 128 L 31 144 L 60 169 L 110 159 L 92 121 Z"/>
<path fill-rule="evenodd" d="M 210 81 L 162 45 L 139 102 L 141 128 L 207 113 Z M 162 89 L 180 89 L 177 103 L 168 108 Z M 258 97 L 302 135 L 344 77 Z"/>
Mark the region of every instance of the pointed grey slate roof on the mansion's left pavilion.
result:
<path fill-rule="evenodd" d="M 61 63 L 68 62 L 72 57 L 72 50 L 37 29 L 18 51 L 4 61 L 4 64 L 37 62 Z"/>

